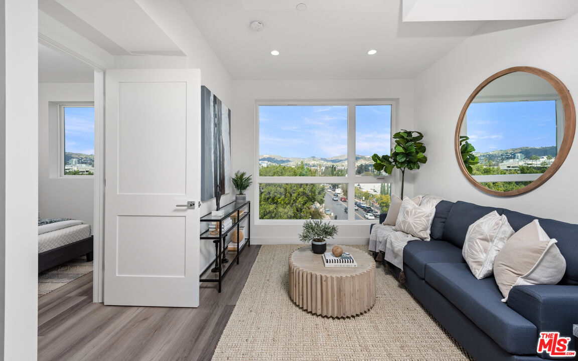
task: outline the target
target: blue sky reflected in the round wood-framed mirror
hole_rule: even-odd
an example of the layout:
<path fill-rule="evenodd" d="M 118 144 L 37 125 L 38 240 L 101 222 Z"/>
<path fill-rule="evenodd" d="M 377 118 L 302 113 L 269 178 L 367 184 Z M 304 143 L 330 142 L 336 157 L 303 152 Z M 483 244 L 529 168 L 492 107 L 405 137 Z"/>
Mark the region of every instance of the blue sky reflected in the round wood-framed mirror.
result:
<path fill-rule="evenodd" d="M 556 145 L 555 101 L 472 103 L 466 121 L 478 152 Z"/>

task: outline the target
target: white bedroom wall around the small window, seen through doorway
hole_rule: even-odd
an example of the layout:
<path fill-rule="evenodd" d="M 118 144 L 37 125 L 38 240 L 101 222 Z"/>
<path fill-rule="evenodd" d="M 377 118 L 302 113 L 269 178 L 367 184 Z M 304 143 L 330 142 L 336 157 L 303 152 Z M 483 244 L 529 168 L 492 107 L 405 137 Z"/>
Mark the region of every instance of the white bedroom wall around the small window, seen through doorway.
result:
<path fill-rule="evenodd" d="M 38 210 L 42 218 L 75 218 L 92 226 L 94 177 L 58 177 L 58 102 L 94 102 L 94 84 L 38 85 Z"/>

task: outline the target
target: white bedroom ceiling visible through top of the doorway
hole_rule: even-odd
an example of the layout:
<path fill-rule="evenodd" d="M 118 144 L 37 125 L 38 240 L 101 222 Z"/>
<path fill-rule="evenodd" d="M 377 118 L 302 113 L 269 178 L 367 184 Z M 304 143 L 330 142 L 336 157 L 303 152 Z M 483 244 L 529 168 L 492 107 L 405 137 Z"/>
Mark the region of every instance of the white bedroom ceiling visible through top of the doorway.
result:
<path fill-rule="evenodd" d="M 38 82 L 93 83 L 94 69 L 71 55 L 38 44 Z"/>

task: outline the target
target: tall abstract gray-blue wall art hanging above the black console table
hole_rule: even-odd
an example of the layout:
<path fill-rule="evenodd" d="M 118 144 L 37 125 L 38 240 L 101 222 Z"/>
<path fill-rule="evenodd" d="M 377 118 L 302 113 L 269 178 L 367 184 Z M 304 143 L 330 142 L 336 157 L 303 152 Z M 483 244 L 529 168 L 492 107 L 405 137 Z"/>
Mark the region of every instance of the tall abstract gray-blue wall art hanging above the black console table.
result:
<path fill-rule="evenodd" d="M 201 87 L 201 200 L 231 191 L 231 110 Z"/>

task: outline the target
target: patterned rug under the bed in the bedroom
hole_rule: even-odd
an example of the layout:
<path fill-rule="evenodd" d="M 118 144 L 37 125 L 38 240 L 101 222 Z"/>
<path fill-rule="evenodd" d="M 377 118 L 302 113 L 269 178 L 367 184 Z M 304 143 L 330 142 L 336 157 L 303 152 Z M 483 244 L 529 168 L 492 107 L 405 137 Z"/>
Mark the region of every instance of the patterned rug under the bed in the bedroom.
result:
<path fill-rule="evenodd" d="M 46 295 L 92 272 L 92 261 L 86 262 L 86 256 L 69 260 L 60 266 L 52 267 L 38 274 L 38 297 Z"/>

